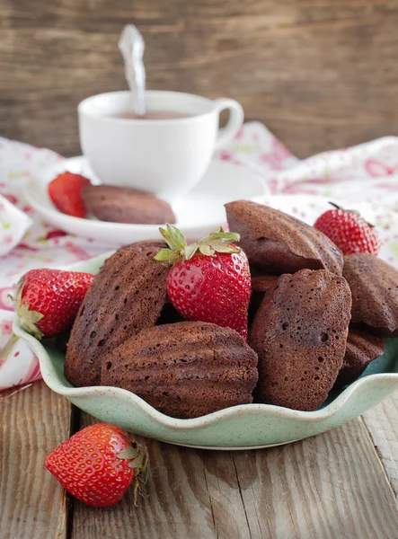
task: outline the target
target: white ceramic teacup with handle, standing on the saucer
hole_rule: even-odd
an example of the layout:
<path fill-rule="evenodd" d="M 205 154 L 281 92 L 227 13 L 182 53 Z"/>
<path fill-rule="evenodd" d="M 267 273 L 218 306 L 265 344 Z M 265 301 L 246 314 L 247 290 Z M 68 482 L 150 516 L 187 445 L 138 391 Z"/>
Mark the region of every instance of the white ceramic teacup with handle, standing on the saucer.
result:
<path fill-rule="evenodd" d="M 218 131 L 221 110 L 226 127 Z M 179 92 L 146 92 L 146 110 L 186 114 L 176 119 L 123 119 L 129 92 L 93 95 L 78 106 L 80 144 L 102 183 L 175 199 L 202 178 L 215 149 L 243 124 L 243 109 L 232 99 L 214 101 Z"/>

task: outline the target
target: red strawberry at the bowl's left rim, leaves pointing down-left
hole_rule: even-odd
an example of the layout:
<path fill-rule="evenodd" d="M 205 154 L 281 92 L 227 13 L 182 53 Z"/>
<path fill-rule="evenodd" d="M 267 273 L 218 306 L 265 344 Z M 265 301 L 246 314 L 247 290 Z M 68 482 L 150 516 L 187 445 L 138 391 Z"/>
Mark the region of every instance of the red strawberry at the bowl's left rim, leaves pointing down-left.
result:
<path fill-rule="evenodd" d="M 15 287 L 13 305 L 25 331 L 36 339 L 53 337 L 68 329 L 88 287 L 91 273 L 30 270 Z"/>

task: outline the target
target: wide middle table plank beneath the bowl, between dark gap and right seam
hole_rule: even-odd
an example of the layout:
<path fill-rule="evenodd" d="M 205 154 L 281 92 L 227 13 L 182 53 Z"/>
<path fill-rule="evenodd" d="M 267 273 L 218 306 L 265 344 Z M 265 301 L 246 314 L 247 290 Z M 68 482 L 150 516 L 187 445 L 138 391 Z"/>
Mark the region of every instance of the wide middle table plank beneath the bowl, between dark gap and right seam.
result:
<path fill-rule="evenodd" d="M 82 427 L 94 422 L 84 414 Z M 140 438 L 151 469 L 108 509 L 75 502 L 76 539 L 387 539 L 398 508 L 362 420 L 289 446 L 214 452 Z"/>

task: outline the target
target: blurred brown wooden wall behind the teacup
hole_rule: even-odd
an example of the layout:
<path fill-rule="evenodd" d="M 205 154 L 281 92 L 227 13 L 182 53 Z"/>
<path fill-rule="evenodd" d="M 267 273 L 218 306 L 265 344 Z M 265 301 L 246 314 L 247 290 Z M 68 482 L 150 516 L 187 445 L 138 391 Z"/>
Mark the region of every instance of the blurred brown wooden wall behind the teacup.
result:
<path fill-rule="evenodd" d="M 300 157 L 398 132 L 396 0 L 1 0 L 0 135 L 78 154 L 127 22 L 149 88 L 234 97 Z"/>

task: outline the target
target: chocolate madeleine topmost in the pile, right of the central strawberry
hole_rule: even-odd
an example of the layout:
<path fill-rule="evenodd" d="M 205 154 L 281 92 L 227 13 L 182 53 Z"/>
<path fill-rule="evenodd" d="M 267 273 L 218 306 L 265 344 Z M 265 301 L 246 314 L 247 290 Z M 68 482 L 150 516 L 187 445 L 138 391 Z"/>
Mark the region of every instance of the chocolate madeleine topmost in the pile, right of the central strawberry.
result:
<path fill-rule="evenodd" d="M 303 269 L 341 275 L 340 249 L 313 226 L 248 200 L 226 204 L 226 217 L 229 229 L 241 235 L 239 244 L 252 266 L 278 275 Z"/>

